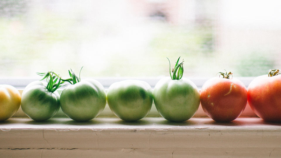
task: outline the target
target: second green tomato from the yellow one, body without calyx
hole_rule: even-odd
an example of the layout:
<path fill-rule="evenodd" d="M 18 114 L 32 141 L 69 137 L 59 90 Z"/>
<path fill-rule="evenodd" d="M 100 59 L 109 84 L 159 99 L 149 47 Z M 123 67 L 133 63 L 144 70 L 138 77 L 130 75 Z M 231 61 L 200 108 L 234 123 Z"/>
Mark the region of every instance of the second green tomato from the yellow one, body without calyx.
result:
<path fill-rule="evenodd" d="M 61 92 L 61 110 L 75 121 L 88 121 L 100 114 L 106 104 L 104 87 L 97 80 L 82 80 Z"/>

